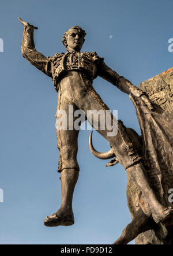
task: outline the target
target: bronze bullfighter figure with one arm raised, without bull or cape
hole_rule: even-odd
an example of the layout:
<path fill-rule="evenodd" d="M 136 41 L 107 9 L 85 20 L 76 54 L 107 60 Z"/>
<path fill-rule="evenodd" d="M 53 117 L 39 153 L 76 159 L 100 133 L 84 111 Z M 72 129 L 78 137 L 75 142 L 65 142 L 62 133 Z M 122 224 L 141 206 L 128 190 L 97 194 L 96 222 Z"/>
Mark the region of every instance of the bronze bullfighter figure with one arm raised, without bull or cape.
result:
<path fill-rule="evenodd" d="M 82 28 L 74 26 L 63 35 L 62 42 L 66 47 L 66 53 L 56 53 L 53 57 L 46 58 L 35 49 L 33 30 L 37 28 L 22 21 L 21 18 L 19 20 L 24 25 L 22 55 L 54 81 L 55 90 L 58 92 L 57 110 L 66 110 L 68 113 L 69 105 L 72 105 L 74 110 L 84 110 L 85 114 L 88 109 L 108 110 L 92 86 L 92 81 L 97 76 L 106 79 L 121 91 L 130 94 L 131 97 L 140 98 L 140 101 L 149 110 L 152 110 L 152 103 L 145 92 L 131 84 L 125 77 L 112 71 L 96 52 L 81 52 L 82 44 L 85 41 L 85 31 Z M 113 125 L 116 125 L 112 116 L 111 121 Z M 70 125 L 73 126 L 73 124 Z M 93 120 L 91 125 L 95 128 Z M 138 185 L 142 194 L 147 198 L 153 220 L 159 223 L 170 217 L 173 209 L 171 206 L 161 205 L 158 201 L 146 176 L 142 155 L 130 139 L 122 121 L 118 121 L 116 136 L 107 136 L 107 129 L 102 130 L 100 124 L 97 131 L 112 146 L 111 153 L 108 154 L 116 155 L 118 161 L 126 169 L 127 175 Z M 62 203 L 59 210 L 44 221 L 44 225 L 48 227 L 74 224 L 72 199 L 79 173 L 76 158 L 77 137 L 78 131 L 76 129 L 57 130 L 58 149 L 60 151 L 58 172 L 61 172 Z"/>

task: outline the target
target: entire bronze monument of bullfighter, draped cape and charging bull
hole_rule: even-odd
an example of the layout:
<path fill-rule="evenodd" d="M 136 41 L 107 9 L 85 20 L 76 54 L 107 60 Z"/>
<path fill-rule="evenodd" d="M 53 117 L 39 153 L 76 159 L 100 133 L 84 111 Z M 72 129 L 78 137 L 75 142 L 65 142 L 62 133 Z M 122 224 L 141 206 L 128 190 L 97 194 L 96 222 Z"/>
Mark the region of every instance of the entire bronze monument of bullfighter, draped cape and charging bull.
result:
<path fill-rule="evenodd" d="M 165 95 L 172 97 L 169 91 L 171 84 L 168 86 L 164 82 L 163 89 L 159 89 L 159 95 L 161 95 L 159 98 L 156 95 L 157 86 L 152 87 L 149 84 L 149 87 L 145 87 L 143 84 L 145 88 L 141 86 L 142 90 L 134 86 L 125 77 L 119 76 L 109 68 L 96 52 L 81 52 L 85 41 L 85 31 L 78 26 L 70 28 L 63 36 L 62 42 L 66 47 L 66 53 L 56 53 L 53 57 L 45 57 L 35 49 L 33 31 L 37 28 L 22 21 L 21 18 L 19 20 L 24 25 L 22 55 L 37 69 L 51 77 L 58 92 L 57 120 L 58 111 L 66 110 L 68 113 L 69 106 L 73 106 L 74 111 L 82 110 L 86 119 L 88 118 L 87 110 L 103 110 L 106 113 L 107 105 L 92 86 L 93 79 L 97 76 L 129 94 L 136 107 L 141 137 L 133 129 L 126 128 L 121 120 L 115 121 L 113 116 L 111 116 L 111 124 L 114 126 L 118 124 L 116 136 L 108 136 L 107 128 L 101 129 L 100 120 L 98 128 L 95 127 L 94 120 L 88 120 L 92 127 L 96 128 L 111 144 L 114 154 L 109 155 L 115 155 L 116 158 L 110 165 L 120 162 L 127 171 L 127 201 L 133 220 L 125 228 L 116 244 L 126 244 L 149 229 L 153 232 L 158 229 L 161 238 L 158 240 L 155 239 L 157 235 L 148 235 L 147 239 L 150 241 L 148 243 L 171 243 L 172 240 L 168 240 L 168 237 L 173 224 L 171 220 L 173 209 L 168 203 L 166 191 L 173 184 L 172 133 L 170 133 L 172 131 L 169 129 L 172 119 L 156 105 L 159 101 L 159 104 L 169 112 L 171 101 L 167 99 L 170 105 L 166 105 L 164 101 Z M 163 79 L 166 81 L 166 76 L 161 79 L 162 86 Z M 168 83 L 171 83 L 170 80 Z M 152 94 L 153 91 L 156 92 Z M 163 96 L 162 91 L 165 93 Z M 149 98 L 152 95 L 156 98 L 151 100 L 147 94 Z M 70 124 L 72 129 L 57 129 L 60 151 L 58 172 L 61 172 L 62 203 L 58 211 L 44 221 L 44 225 L 48 227 L 74 223 L 72 200 L 79 173 L 77 162 L 79 131 L 74 129 L 74 121 L 75 119 L 73 122 L 68 120 L 67 127 Z M 105 155 L 108 157 L 108 154 L 102 154 L 102 157 Z M 153 240 L 151 242 L 150 238 L 153 238 L 154 242 Z M 137 243 L 142 243 L 142 239 L 144 240 L 143 237 L 138 237 Z"/>

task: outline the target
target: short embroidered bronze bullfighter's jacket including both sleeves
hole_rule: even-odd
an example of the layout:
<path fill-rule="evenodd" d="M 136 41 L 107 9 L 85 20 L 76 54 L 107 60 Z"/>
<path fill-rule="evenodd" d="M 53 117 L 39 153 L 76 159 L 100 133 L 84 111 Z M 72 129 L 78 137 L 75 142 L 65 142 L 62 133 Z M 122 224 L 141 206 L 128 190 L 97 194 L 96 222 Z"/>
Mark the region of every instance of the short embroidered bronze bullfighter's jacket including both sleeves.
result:
<path fill-rule="evenodd" d="M 46 58 L 35 49 L 32 25 L 24 27 L 21 50 L 22 55 L 31 62 L 32 65 L 52 78 L 57 91 L 58 83 L 61 81 L 62 77 L 65 76 L 67 71 L 78 71 L 81 72 L 84 80 L 89 80 L 91 83 L 93 79 L 100 76 L 127 94 L 131 93 L 139 97 L 145 94 L 145 92 L 125 79 L 125 77 L 119 76 L 118 73 L 112 71 L 112 69 L 104 63 L 103 58 L 100 58 L 96 52 L 67 51 L 66 53 L 56 53 L 53 57 Z"/>

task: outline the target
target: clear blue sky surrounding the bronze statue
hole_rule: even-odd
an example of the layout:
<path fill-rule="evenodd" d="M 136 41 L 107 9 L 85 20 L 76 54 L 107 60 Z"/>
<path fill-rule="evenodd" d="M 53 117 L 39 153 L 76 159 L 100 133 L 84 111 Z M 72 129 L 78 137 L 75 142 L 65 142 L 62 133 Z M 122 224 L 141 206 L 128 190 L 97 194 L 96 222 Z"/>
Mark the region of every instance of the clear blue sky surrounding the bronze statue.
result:
<path fill-rule="evenodd" d="M 61 203 L 55 133 L 57 92 L 51 79 L 22 57 L 23 28 L 17 17 L 39 28 L 35 31 L 36 49 L 46 56 L 64 52 L 63 33 L 80 25 L 86 31 L 82 51 L 96 51 L 108 66 L 138 85 L 172 67 L 173 53 L 168 51 L 168 39 L 173 38 L 172 8 L 171 0 L 2 1 L 1 244 L 108 244 L 130 222 L 125 169 L 120 164 L 106 168 L 107 161 L 89 151 L 89 131 L 80 131 L 75 224 L 43 225 L 44 218 L 56 212 Z M 93 84 L 110 109 L 118 110 L 118 118 L 140 133 L 128 95 L 100 77 Z M 98 150 L 109 149 L 96 131 L 93 141 Z"/>

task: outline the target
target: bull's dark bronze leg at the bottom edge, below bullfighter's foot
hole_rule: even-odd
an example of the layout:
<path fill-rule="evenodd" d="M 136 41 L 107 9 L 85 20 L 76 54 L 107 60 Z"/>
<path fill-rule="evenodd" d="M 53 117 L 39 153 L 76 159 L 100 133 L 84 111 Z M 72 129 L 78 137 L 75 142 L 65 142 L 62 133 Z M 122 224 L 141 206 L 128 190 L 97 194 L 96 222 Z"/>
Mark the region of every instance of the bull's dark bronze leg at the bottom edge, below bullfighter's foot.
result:
<path fill-rule="evenodd" d="M 127 244 L 135 239 L 140 233 L 148 231 L 155 227 L 156 223 L 152 218 L 147 217 L 142 209 L 139 209 L 129 225 L 123 229 L 120 238 L 114 244 Z"/>

